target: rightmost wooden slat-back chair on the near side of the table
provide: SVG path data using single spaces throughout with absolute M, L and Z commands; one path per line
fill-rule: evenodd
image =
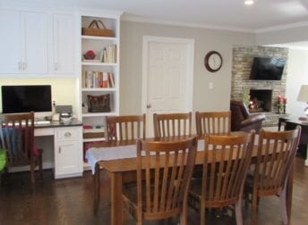
M 287 179 L 292 171 L 301 127 L 287 131 L 261 129 L 257 162 L 245 183 L 245 198 L 252 194 L 252 220 L 257 220 L 257 206 L 261 196 L 280 197 L 281 218 L 289 224 L 287 212 Z

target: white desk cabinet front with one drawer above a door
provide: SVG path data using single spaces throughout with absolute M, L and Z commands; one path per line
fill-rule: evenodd
M 55 129 L 55 178 L 82 176 L 82 127 Z

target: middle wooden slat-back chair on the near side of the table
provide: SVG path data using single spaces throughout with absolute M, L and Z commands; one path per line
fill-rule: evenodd
M 235 204 L 236 224 L 243 224 L 244 180 L 251 158 L 255 131 L 238 135 L 205 135 L 203 173 L 194 179 L 188 204 L 206 223 L 206 209 Z

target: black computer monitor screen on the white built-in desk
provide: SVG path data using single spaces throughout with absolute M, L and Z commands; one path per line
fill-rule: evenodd
M 51 86 L 2 86 L 2 112 L 51 112 Z M 37 113 L 36 113 L 37 114 Z

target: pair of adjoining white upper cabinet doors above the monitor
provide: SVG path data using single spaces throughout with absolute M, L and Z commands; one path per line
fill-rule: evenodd
M 46 13 L 1 9 L 0 30 L 0 73 L 47 73 Z

